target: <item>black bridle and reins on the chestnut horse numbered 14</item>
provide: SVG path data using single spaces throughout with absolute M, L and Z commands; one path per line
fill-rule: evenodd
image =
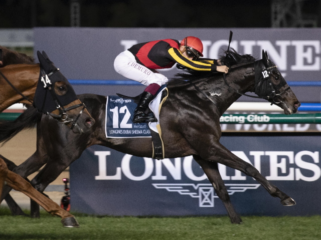
M 82 114 L 83 110 L 85 109 L 86 105 L 84 103 L 80 103 L 80 104 L 76 104 L 76 105 L 72 105 L 70 107 L 65 108 L 61 103 L 59 98 L 57 97 L 57 94 L 54 90 L 54 88 L 52 87 L 52 83 L 49 79 L 49 77 L 54 74 L 56 71 L 59 71 L 59 68 L 55 69 L 54 71 L 50 72 L 49 74 L 46 75 L 45 71 L 40 68 L 40 72 L 41 75 L 39 77 L 39 81 L 43 81 L 44 82 L 44 88 L 48 89 L 49 92 L 51 93 L 52 98 L 54 99 L 56 108 L 59 109 L 59 115 L 54 114 L 54 113 L 49 113 L 46 111 L 43 111 L 42 109 L 39 109 L 35 106 L 34 102 L 32 100 L 29 99 L 29 97 L 25 96 L 17 87 L 15 87 L 10 80 L 0 71 L 0 75 L 2 75 L 2 77 L 7 81 L 7 83 L 18 93 L 20 94 L 25 100 L 29 101 L 31 104 L 33 104 L 38 110 L 42 111 L 43 113 L 49 114 L 54 118 L 57 118 L 58 120 L 62 120 L 60 121 L 60 123 L 68 123 L 71 121 L 74 121 L 70 127 L 70 129 L 73 129 L 76 125 L 77 125 L 77 121 L 80 117 L 80 115 Z M 71 120 L 67 120 L 68 119 L 68 114 L 67 111 L 71 110 L 71 109 L 75 109 L 77 107 L 81 107 L 83 106 L 83 108 L 80 110 L 78 116 L 76 117 L 75 120 L 71 119 Z

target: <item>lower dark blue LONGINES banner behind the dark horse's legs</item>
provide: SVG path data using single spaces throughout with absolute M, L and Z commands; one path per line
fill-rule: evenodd
M 242 215 L 321 214 L 319 136 L 223 136 L 221 143 L 291 196 L 285 207 L 252 177 L 220 164 Z M 166 149 L 165 149 L 166 150 Z M 192 156 L 156 160 L 94 145 L 70 166 L 72 210 L 108 215 L 226 214 Z

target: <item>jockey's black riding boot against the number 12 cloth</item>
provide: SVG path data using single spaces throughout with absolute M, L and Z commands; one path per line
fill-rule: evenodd
M 148 104 L 151 101 L 153 94 L 148 91 L 144 91 L 140 97 L 139 103 L 134 111 L 134 123 L 155 121 L 156 118 L 152 111 L 145 113 L 148 108 Z

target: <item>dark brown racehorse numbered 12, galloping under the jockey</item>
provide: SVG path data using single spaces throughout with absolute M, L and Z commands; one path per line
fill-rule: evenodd
M 187 72 L 178 74 L 169 81 L 169 95 L 159 116 L 165 157 L 193 155 L 223 201 L 231 222 L 241 223 L 219 173 L 218 163 L 254 177 L 273 197 L 279 197 L 283 205 L 294 205 L 295 201 L 268 182 L 254 166 L 234 155 L 219 142 L 220 116 L 241 94 L 248 91 L 254 91 L 259 97 L 278 105 L 285 114 L 295 113 L 300 102 L 277 66 L 268 59 L 266 52 L 263 51 L 261 60 L 256 60 L 248 54 L 240 55 L 234 50 L 226 53 L 226 56 L 221 57 L 221 61 L 230 65 L 230 72 L 226 75 L 187 69 Z M 14 167 L 15 172 L 27 177 L 46 164 L 31 181 L 41 192 L 67 166 L 79 158 L 87 147 L 94 144 L 127 154 L 152 157 L 151 138 L 105 136 L 106 96 L 82 94 L 79 97 L 96 120 L 92 131 L 77 135 L 43 115 L 37 124 L 36 152 L 24 163 Z M 5 134 L 0 133 L 0 141 L 5 138 Z M 6 189 L 6 193 L 9 190 Z M 37 215 L 37 212 L 34 214 Z

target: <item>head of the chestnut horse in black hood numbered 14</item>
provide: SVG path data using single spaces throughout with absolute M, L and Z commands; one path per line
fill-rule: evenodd
M 86 132 L 95 120 L 78 99 L 67 78 L 49 59 L 46 52 L 37 51 L 40 62 L 40 77 L 34 98 L 34 105 L 62 123 L 75 133 Z

